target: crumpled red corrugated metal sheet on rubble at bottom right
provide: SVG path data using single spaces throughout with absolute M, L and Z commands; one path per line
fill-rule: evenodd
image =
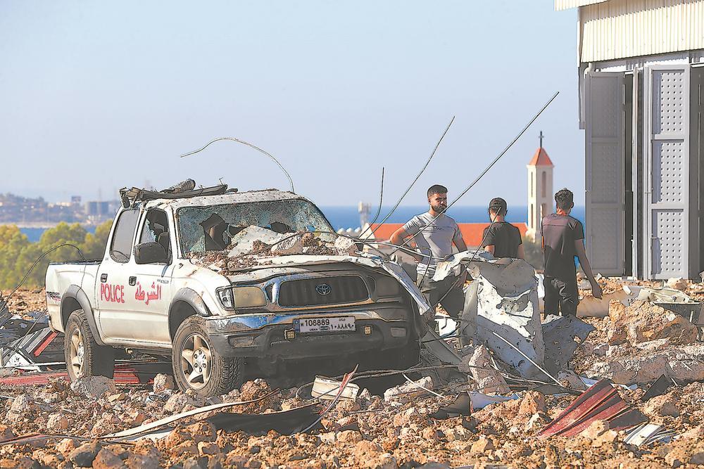
M 612 430 L 620 430 L 645 422 L 647 418 L 624 402 L 610 381 L 601 380 L 574 399 L 565 411 L 538 433 L 538 437 L 573 437 L 596 420 L 605 420 L 612 424 Z

